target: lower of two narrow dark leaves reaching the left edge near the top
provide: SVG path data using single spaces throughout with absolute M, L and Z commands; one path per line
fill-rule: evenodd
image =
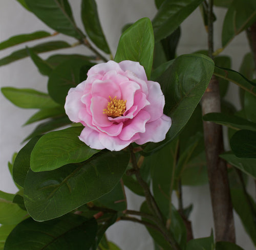
M 34 53 L 44 53 L 44 52 L 48 52 L 48 51 L 66 49 L 66 48 L 70 48 L 70 47 L 71 47 L 70 44 L 68 44 L 65 41 L 50 41 L 50 42 L 40 43 L 34 47 L 31 47 L 30 49 Z M 0 66 L 23 59 L 27 56 L 29 56 L 27 49 L 21 49 L 21 50 L 14 51 L 9 56 L 6 56 L 6 57 L 0 59 Z

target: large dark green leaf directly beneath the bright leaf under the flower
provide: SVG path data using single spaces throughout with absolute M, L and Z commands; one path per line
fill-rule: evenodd
M 102 152 L 53 171 L 30 170 L 24 189 L 29 214 L 38 221 L 49 220 L 110 192 L 122 177 L 129 156 L 124 151 Z

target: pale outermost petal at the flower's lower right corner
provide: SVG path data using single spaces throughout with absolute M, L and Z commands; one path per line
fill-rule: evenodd
M 146 123 L 146 131 L 144 133 L 139 133 L 140 139 L 135 142 L 139 145 L 146 142 L 161 142 L 165 139 L 167 131 L 172 125 L 172 120 L 162 115 L 158 120 Z

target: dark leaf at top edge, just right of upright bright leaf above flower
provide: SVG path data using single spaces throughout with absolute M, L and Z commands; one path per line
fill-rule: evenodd
M 156 42 L 172 34 L 203 0 L 165 0 L 152 24 Z

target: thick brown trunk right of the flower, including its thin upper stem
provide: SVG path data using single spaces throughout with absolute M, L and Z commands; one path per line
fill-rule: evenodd
M 213 0 L 208 4 L 208 55 L 213 58 Z M 210 83 L 202 97 L 202 113 L 221 112 L 219 83 L 212 76 Z M 219 157 L 223 151 L 223 137 L 221 125 L 204 122 L 204 143 L 207 160 L 211 206 L 214 214 L 216 241 L 235 241 L 232 203 L 228 185 L 226 163 Z

